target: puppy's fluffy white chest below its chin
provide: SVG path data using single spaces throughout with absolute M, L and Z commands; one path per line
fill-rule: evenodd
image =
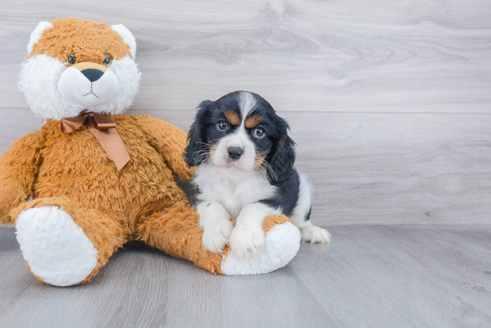
M 194 183 L 199 187 L 198 199 L 220 203 L 231 217 L 249 204 L 273 195 L 275 187 L 256 172 L 200 166 Z

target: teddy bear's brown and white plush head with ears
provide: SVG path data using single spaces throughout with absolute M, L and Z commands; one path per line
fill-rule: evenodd
M 123 25 L 73 18 L 41 22 L 27 52 L 19 89 L 44 119 L 83 111 L 121 114 L 138 90 L 135 37 Z

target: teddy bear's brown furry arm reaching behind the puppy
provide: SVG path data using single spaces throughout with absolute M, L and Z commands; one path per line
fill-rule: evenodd
M 182 152 L 186 147 L 187 133 L 175 125 L 148 115 L 138 116 L 137 124 L 147 135 L 148 142 L 162 155 L 171 170 L 180 179 L 190 181 L 194 169 L 188 168 L 182 157 Z

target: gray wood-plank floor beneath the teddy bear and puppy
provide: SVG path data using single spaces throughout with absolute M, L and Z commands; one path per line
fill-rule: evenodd
M 2 327 L 489 327 L 491 226 L 336 226 L 285 268 L 215 276 L 132 245 L 89 284 L 39 283 L 0 227 Z

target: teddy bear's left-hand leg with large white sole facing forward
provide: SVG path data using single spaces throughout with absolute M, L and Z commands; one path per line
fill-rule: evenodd
M 29 269 L 56 286 L 90 281 L 129 235 L 116 213 L 81 208 L 65 197 L 30 201 L 12 216 Z

